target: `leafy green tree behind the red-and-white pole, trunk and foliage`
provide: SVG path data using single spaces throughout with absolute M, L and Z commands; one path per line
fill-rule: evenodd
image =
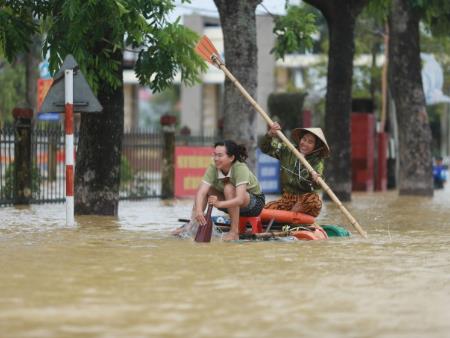
M 169 86 L 177 72 L 189 85 L 198 81 L 199 72 L 206 68 L 193 50 L 197 36 L 178 21 L 167 22 L 166 15 L 174 7 L 169 0 L 48 0 L 20 2 L 22 7 L 16 4 L 17 1 L 7 1 L 11 11 L 20 14 L 31 9 L 34 16 L 43 20 L 44 54 L 50 53 L 50 68 L 56 70 L 67 54 L 73 54 L 103 106 L 102 113 L 81 117 L 75 212 L 116 215 L 124 115 L 123 52 L 126 48 L 139 49 L 135 71 L 140 82 L 152 90 Z M 36 27 L 30 26 L 29 30 L 36 31 Z M 7 51 L 3 48 L 8 57 L 28 48 L 25 43 L 14 45 L 8 36 L 0 40 L 0 45 L 8 44 L 14 47 Z

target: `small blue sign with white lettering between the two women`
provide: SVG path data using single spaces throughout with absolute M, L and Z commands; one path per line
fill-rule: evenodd
M 265 194 L 280 193 L 280 161 L 256 150 L 256 173 Z

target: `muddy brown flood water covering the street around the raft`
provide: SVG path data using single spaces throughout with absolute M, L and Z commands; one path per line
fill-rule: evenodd
M 274 197 L 272 197 L 273 199 Z M 355 193 L 363 239 L 198 244 L 169 231 L 191 201 L 0 209 L 1 337 L 449 337 L 450 189 Z

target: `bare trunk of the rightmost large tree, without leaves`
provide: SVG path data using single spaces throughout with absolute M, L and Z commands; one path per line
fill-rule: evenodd
M 420 13 L 393 0 L 389 18 L 390 84 L 399 126 L 400 195 L 433 195 L 431 129 L 420 60 Z

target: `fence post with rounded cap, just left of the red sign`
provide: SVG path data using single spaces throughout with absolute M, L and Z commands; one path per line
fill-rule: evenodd
M 174 157 L 175 157 L 175 124 L 176 116 L 164 114 L 160 123 L 163 130 L 163 163 L 162 163 L 162 198 L 174 197 Z

